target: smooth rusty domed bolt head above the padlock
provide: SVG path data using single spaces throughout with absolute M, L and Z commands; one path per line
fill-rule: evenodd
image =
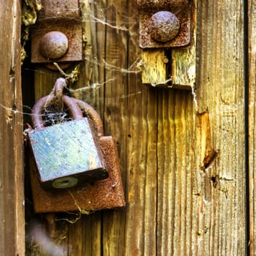
M 50 31 L 40 41 L 40 51 L 47 59 L 59 59 L 67 53 L 69 40 L 60 31 Z

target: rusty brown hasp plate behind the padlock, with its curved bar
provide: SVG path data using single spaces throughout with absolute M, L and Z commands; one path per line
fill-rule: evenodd
M 59 94 L 61 89 L 58 89 L 57 82 L 55 91 Z M 52 99 L 49 100 L 51 101 Z M 72 101 L 75 101 L 75 104 L 82 110 L 83 116 L 87 116 L 89 121 L 93 124 L 94 132 L 97 137 L 96 141 L 102 152 L 105 167 L 108 171 L 108 178 L 95 181 L 94 183 L 86 183 L 83 184 L 83 186 L 46 191 L 42 189 L 40 185 L 34 159 L 33 157 L 29 157 L 34 210 L 37 213 L 81 210 L 90 212 L 105 208 L 119 208 L 125 206 L 116 140 L 112 136 L 104 135 L 102 120 L 94 108 L 79 99 L 72 98 Z M 58 104 L 61 105 L 61 101 Z M 40 111 L 41 110 L 39 110 L 39 112 Z M 42 126 L 42 121 L 34 122 L 37 126 Z

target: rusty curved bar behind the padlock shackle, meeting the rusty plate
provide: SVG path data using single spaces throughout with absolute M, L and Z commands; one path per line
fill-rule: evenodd
M 79 108 L 83 110 L 87 116 L 91 119 L 92 123 L 94 124 L 94 128 L 96 129 L 98 137 L 104 136 L 104 129 L 102 124 L 102 119 L 100 118 L 99 114 L 97 113 L 91 105 L 83 102 L 80 99 L 74 99 L 75 102 L 78 104 Z

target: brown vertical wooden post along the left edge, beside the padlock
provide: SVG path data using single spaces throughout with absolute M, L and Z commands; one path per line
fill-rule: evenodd
M 0 255 L 25 255 L 20 1 L 1 1 Z

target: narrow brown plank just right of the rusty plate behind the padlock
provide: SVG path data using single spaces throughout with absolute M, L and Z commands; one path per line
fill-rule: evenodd
M 141 59 L 138 9 L 129 1 L 128 67 Z M 134 69 L 133 69 L 134 70 Z M 136 70 L 136 69 L 135 69 Z M 157 254 L 157 89 L 128 76 L 127 219 L 125 255 Z

